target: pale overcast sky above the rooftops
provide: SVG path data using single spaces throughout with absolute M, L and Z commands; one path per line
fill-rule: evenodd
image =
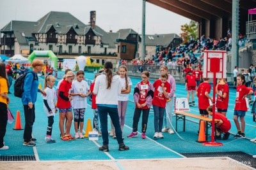
M 96 25 L 104 31 L 132 28 L 141 34 L 142 0 L 1 0 L 0 29 L 11 20 L 37 21 L 49 11 L 65 11 L 84 24 L 96 11 Z M 189 19 L 146 3 L 146 34 L 180 34 Z

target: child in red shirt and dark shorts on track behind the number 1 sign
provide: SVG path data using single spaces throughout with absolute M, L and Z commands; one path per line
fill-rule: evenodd
M 185 89 L 188 91 L 187 97 L 188 97 L 188 102 L 190 98 L 190 93 L 192 94 L 192 102 L 189 102 L 189 106 L 195 107 L 195 90 L 196 90 L 196 76 L 192 74 L 191 71 L 188 72 L 186 75 L 186 83 L 185 83 Z

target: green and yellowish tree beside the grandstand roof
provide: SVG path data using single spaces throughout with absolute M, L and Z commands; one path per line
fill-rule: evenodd
M 189 41 L 189 37 L 192 35 L 194 39 L 196 39 L 197 31 L 198 31 L 198 22 L 191 20 L 189 24 L 184 24 L 180 26 L 182 33 L 180 33 L 180 37 L 183 39 L 183 43 Z

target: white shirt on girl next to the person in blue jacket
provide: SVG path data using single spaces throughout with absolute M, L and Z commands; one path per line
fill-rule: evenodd
M 44 104 L 44 112 L 47 115 L 47 117 L 55 116 L 55 103 L 56 103 L 56 92 L 55 89 L 47 87 L 44 92 L 46 93 L 46 96 L 43 96 L 44 100 L 47 100 L 49 108 L 51 108 L 52 113 L 49 113 L 48 109 L 46 108 Z

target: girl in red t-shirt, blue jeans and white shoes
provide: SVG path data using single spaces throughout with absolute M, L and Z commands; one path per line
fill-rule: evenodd
M 153 138 L 164 138 L 162 134 L 164 111 L 166 106 L 166 97 L 171 91 L 171 85 L 168 83 L 168 74 L 161 73 L 160 80 L 156 80 L 153 84 L 154 97 L 152 101 L 154 109 L 154 127 L 155 134 Z

